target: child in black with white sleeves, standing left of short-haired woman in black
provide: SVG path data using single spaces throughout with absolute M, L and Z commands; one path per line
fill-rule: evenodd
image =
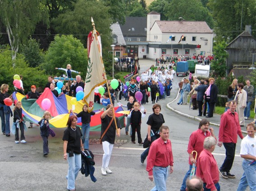
M 127 118 L 130 118 L 130 125 L 131 125 L 131 142 L 135 144 L 135 133 L 137 131 L 137 136 L 138 136 L 138 143 L 140 145 L 143 145 L 142 139 L 141 139 L 141 134 L 140 134 L 140 124 L 141 124 L 141 119 L 144 118 L 146 115 L 146 109 L 144 110 L 143 113 L 139 110 L 140 104 L 138 102 L 134 103 L 134 109 L 130 111 L 130 114 L 127 116 Z

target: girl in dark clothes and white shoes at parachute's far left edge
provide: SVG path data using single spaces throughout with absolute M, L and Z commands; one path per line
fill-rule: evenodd
M 14 107 L 14 123 L 15 126 L 15 143 L 19 143 L 19 130 L 20 130 L 20 142 L 27 143 L 24 136 L 25 125 L 22 118 L 21 102 L 18 101 Z M 12 131 L 13 132 L 13 131 Z

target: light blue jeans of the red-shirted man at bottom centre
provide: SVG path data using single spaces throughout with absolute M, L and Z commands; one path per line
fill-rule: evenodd
M 153 167 L 155 187 L 151 191 L 166 191 L 166 181 L 168 178 L 168 167 Z

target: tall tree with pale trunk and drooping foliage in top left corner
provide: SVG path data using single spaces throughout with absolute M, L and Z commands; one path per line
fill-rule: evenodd
M 48 23 L 45 0 L 0 0 L 0 19 L 6 27 L 12 49 L 13 67 L 19 44 L 28 40 L 40 21 Z

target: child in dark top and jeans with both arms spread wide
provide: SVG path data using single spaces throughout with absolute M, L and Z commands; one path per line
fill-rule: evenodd
M 90 134 L 90 122 L 91 122 L 91 115 L 99 114 L 100 112 L 104 111 L 104 108 L 102 108 L 100 111 L 93 112 L 91 111 L 88 113 L 88 105 L 84 104 L 83 111 L 81 111 L 79 114 L 75 115 L 73 110 L 70 110 L 74 116 L 81 117 L 82 120 L 82 142 L 84 144 L 84 149 L 89 149 L 89 134 Z

